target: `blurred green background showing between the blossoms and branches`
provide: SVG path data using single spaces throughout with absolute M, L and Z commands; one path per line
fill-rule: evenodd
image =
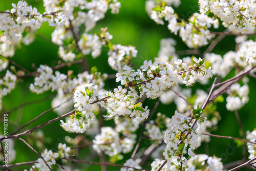
M 25 0 L 29 5 L 36 7 L 39 12 L 44 12 L 44 8 L 42 5 L 42 1 L 39 0 Z M 0 11 L 5 11 L 6 9 L 11 9 L 11 3 L 17 3 L 18 1 L 0 1 Z M 159 44 L 161 38 L 173 37 L 177 41 L 176 50 L 186 50 L 187 46 L 181 41 L 179 36 L 175 36 L 169 32 L 167 29 L 167 24 L 164 26 L 157 25 L 145 12 L 145 0 L 121 0 L 121 9 L 118 15 L 113 15 L 110 11 L 106 14 L 105 18 L 100 20 L 97 26 L 91 31 L 91 33 L 99 32 L 100 28 L 108 27 L 110 34 L 113 35 L 113 44 L 121 44 L 121 45 L 132 45 L 135 46 L 138 50 L 138 54 L 136 58 L 132 59 L 132 63 L 136 66 L 140 66 L 141 63 L 148 59 L 154 59 L 157 56 L 159 51 Z M 180 17 L 186 19 L 194 12 L 198 12 L 198 1 L 195 0 L 183 0 L 181 1 L 181 5 L 178 8 L 174 8 L 175 12 L 179 14 Z M 48 24 L 44 24 L 39 30 L 38 34 L 43 35 L 51 39 L 51 32 L 54 28 L 49 27 Z M 219 30 L 214 31 L 223 31 L 224 28 L 220 27 Z M 234 42 L 234 36 L 226 36 L 220 43 L 215 47 L 213 52 L 217 54 L 225 54 L 230 50 L 235 50 L 236 43 Z M 251 37 L 255 38 L 255 37 Z M 201 52 L 204 52 L 206 47 L 200 49 Z M 35 41 L 29 46 L 22 46 L 20 49 L 17 49 L 15 55 L 12 60 L 18 63 L 20 66 L 23 66 L 25 69 L 29 71 L 34 71 L 32 69 L 32 63 L 35 64 L 36 67 L 39 67 L 40 64 L 47 64 L 50 67 L 54 67 L 57 65 L 57 61 L 60 60 L 57 54 L 58 47 L 50 44 L 45 39 L 40 37 L 36 37 Z M 108 49 L 102 50 L 102 54 L 96 58 L 92 59 L 91 56 L 88 56 L 88 61 L 90 67 L 97 66 L 98 70 L 101 72 L 105 72 L 108 74 L 116 74 L 109 65 L 108 65 Z M 184 56 L 181 56 L 184 57 Z M 10 65 L 9 65 L 10 66 Z M 75 73 L 82 72 L 84 69 L 82 66 L 72 66 L 66 67 L 60 70 L 60 72 L 67 74 L 68 70 L 74 70 Z M 2 73 L 3 75 L 4 73 Z M 227 78 L 226 78 L 227 79 Z M 249 130 L 250 132 L 255 129 L 255 85 L 256 81 L 254 78 L 249 77 L 250 79 L 250 94 L 249 94 L 249 102 L 243 107 L 243 109 L 239 110 L 240 116 L 242 118 L 242 123 L 244 126 L 244 130 Z M 14 107 L 23 104 L 25 102 L 44 99 L 50 97 L 54 97 L 56 92 L 46 92 L 41 95 L 37 95 L 31 93 L 29 91 L 29 84 L 33 82 L 33 78 L 24 78 L 20 80 L 17 84 L 17 87 L 7 96 L 5 96 L 3 100 L 3 110 L 2 116 L 5 112 L 10 111 Z M 212 81 L 209 81 L 212 82 Z M 105 85 L 105 90 L 113 90 L 117 85 L 115 79 L 108 80 Z M 204 90 L 208 90 L 210 88 L 210 84 L 204 86 Z M 198 88 L 197 84 L 193 87 L 195 91 Z M 202 88 L 202 87 L 201 87 Z M 224 95 L 226 98 L 226 95 Z M 24 108 L 20 108 L 15 112 L 9 114 L 9 127 L 8 132 L 12 133 L 17 130 L 20 126 L 24 125 L 31 119 L 38 116 L 40 113 L 51 108 L 51 100 L 52 98 L 48 98 L 43 102 L 38 102 L 36 104 L 27 105 Z M 150 109 L 153 109 L 156 100 L 146 99 L 143 103 L 144 106 L 148 105 Z M 229 112 L 225 108 L 225 101 L 218 105 L 218 111 L 222 117 L 222 120 L 218 124 L 218 130 L 215 132 L 211 132 L 211 134 L 223 135 L 223 136 L 232 136 L 236 138 L 242 138 L 239 134 L 239 125 L 234 116 L 233 112 Z M 157 112 L 162 112 L 168 117 L 172 117 L 176 110 L 174 104 L 171 105 L 163 105 L 160 103 L 158 106 Z M 156 115 L 155 115 L 156 116 Z M 32 124 L 30 124 L 26 129 L 31 129 L 39 124 L 45 123 L 48 120 L 56 118 L 57 114 L 55 112 L 49 112 L 45 116 L 36 120 Z M 75 137 L 77 134 L 70 134 L 66 131 L 63 131 L 61 126 L 59 126 L 60 122 L 51 123 L 41 130 L 44 132 L 44 144 L 45 148 L 52 149 L 53 152 L 56 151 L 57 145 L 59 142 L 65 143 L 65 136 Z M 104 121 L 104 125 L 111 125 L 113 121 Z M 1 120 L 1 128 L 2 120 Z M 138 130 L 140 133 L 141 127 Z M 33 134 L 32 134 L 33 135 Z M 25 140 L 29 141 L 28 138 L 31 139 L 31 145 L 35 147 L 38 152 L 41 152 L 42 149 L 39 149 L 35 144 L 34 140 L 31 136 L 22 137 Z M 23 142 L 20 142 L 17 139 L 14 139 L 15 142 L 15 150 L 16 150 L 16 160 L 12 163 L 17 162 L 26 162 L 37 160 L 38 156 L 31 151 Z M 147 140 L 143 140 L 138 152 L 149 146 Z M 232 146 L 232 147 L 230 147 Z M 55 149 L 55 150 L 54 150 Z M 82 148 L 80 152 L 80 158 L 88 159 L 86 156 L 91 151 L 91 147 Z M 209 156 L 216 155 L 217 157 L 222 157 L 223 163 L 229 163 L 232 161 L 237 161 L 242 159 L 242 146 L 238 146 L 237 143 L 234 143 L 233 140 L 230 139 L 218 139 L 211 138 L 211 141 L 208 144 L 202 143 L 202 145 L 195 151 L 197 154 L 205 153 Z M 248 152 L 246 150 L 247 156 Z M 131 157 L 132 153 L 124 155 L 123 160 L 118 161 L 116 164 L 123 164 L 125 160 Z M 97 156 L 92 156 L 89 158 L 90 161 L 98 162 Z M 88 159 L 88 160 L 89 160 Z M 150 163 L 153 159 L 147 161 L 145 165 L 142 166 L 144 169 L 150 169 Z M 2 163 L 1 163 L 2 164 Z M 11 164 L 11 163 L 9 163 Z M 98 165 L 89 165 L 89 164 L 77 164 L 80 170 L 100 170 L 100 166 Z M 29 169 L 29 166 L 20 166 L 20 167 L 12 167 L 11 170 L 24 170 Z M 55 168 L 55 167 L 54 167 Z M 109 170 L 119 170 L 119 167 L 108 167 Z M 249 168 L 242 168 L 241 170 L 250 170 Z

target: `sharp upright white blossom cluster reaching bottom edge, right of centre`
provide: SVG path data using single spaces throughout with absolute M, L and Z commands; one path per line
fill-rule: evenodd
M 164 133 L 164 157 L 167 160 L 167 170 L 178 170 L 181 165 L 187 168 L 187 159 L 183 156 L 186 153 L 186 148 L 189 145 L 187 154 L 194 156 L 194 150 L 201 145 L 202 125 L 197 122 L 196 129 L 191 129 L 189 126 L 189 117 L 175 111 L 172 119 L 168 120 L 168 128 Z M 186 136 L 185 134 L 189 132 Z

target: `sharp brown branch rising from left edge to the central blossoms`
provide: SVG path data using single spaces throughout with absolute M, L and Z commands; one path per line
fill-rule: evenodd
M 17 137 L 20 137 L 20 136 L 24 136 L 24 135 L 31 134 L 33 131 L 40 129 L 41 127 L 44 127 L 44 126 L 46 126 L 46 125 L 48 125 L 48 124 L 50 124 L 50 123 L 52 123 L 52 122 L 55 122 L 55 121 L 57 121 L 57 120 L 60 120 L 60 119 L 62 119 L 62 118 L 64 118 L 64 117 L 68 116 L 68 115 L 71 115 L 71 114 L 75 113 L 75 111 L 76 111 L 76 110 L 73 110 L 73 111 L 71 111 L 71 112 L 69 112 L 69 113 L 66 113 L 66 114 L 64 114 L 64 115 L 61 115 L 61 116 L 59 116 L 59 117 L 57 117 L 57 118 L 55 118 L 55 119 L 49 120 L 49 121 L 47 121 L 46 123 L 41 124 L 41 125 L 38 125 L 38 126 L 34 127 L 33 129 L 24 131 L 23 133 L 11 135 L 11 136 L 9 135 L 9 136 L 7 136 L 7 138 L 5 138 L 5 137 L 4 137 L 4 138 L 0 138 L 0 141 L 3 141 L 4 139 L 8 139 L 8 138 L 17 138 Z

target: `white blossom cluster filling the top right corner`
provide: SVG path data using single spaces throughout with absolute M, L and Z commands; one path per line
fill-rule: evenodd
M 199 4 L 201 13 L 214 13 L 223 21 L 222 25 L 233 32 L 246 33 L 248 27 L 256 25 L 254 1 L 199 0 Z

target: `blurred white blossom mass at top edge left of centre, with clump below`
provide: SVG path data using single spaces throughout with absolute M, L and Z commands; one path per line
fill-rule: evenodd
M 64 3 L 44 0 L 44 6 L 47 13 L 54 13 L 54 15 L 47 17 L 49 25 L 55 27 L 52 33 L 52 41 L 57 45 L 63 45 L 63 41 L 72 36 L 72 31 L 76 34 L 81 28 L 84 29 L 81 30 L 82 33 L 90 31 L 95 27 L 98 20 L 105 17 L 105 13 L 109 8 L 112 13 L 116 14 L 119 12 L 121 4 L 117 2 L 117 0 L 68 0 Z M 78 9 L 78 11 L 76 9 Z M 98 37 L 91 34 L 89 35 L 84 33 L 83 37 L 89 37 L 86 41 L 81 40 L 80 46 L 86 46 L 86 44 L 89 46 L 89 48 L 83 52 L 87 54 L 90 48 L 95 48 L 93 49 L 92 56 L 97 57 L 100 53 L 98 49 L 99 47 L 101 48 Z M 81 50 L 82 49 L 83 48 L 81 48 Z

